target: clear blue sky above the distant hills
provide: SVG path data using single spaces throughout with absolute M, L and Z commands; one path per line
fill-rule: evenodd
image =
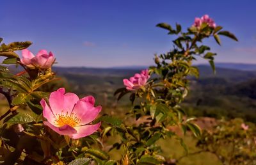
M 207 13 L 239 39 L 222 38 L 221 47 L 207 40 L 216 61 L 256 64 L 255 7 L 254 0 L 1 0 L 0 36 L 31 40 L 31 51 L 52 51 L 59 66 L 152 65 L 154 54 L 172 48 L 157 23 L 187 28 Z

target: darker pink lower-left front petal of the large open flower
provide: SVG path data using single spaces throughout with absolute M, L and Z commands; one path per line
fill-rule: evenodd
M 73 127 L 70 127 L 69 125 L 63 125 L 62 127 L 55 127 L 54 125 L 52 125 L 49 122 L 44 122 L 44 125 L 47 125 L 52 130 L 54 130 L 55 132 L 57 132 L 58 134 L 61 134 L 61 135 L 69 135 L 70 136 L 72 134 L 77 133 L 77 130 L 74 129 Z

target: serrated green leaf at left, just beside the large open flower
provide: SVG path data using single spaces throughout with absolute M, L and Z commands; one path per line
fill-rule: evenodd
M 35 118 L 33 118 L 28 113 L 18 113 L 17 115 L 10 118 L 10 120 L 6 121 L 6 123 L 12 123 L 12 124 L 15 124 L 15 123 L 24 124 L 24 123 L 31 123 L 31 122 L 35 122 Z

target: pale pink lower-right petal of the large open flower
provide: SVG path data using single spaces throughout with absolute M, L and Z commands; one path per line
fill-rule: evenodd
M 76 134 L 69 135 L 72 139 L 79 139 L 83 138 L 85 136 L 89 136 L 90 134 L 93 134 L 93 132 L 96 132 L 100 127 L 100 122 L 95 125 L 83 125 L 74 127 L 74 129 L 77 130 Z

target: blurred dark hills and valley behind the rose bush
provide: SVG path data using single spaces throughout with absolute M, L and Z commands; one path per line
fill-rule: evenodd
M 127 100 L 118 103 L 113 93 L 123 87 L 122 80 L 147 67 L 54 67 L 62 77 L 60 86 L 80 96 L 93 95 L 106 111 L 122 114 L 130 107 Z M 190 88 L 183 107 L 189 115 L 214 118 L 240 117 L 256 123 L 256 65 L 216 63 L 216 74 L 207 65 L 198 65 L 200 77 L 191 77 Z M 211 93 L 211 95 L 209 95 Z M 125 102 L 126 101 L 126 102 Z M 129 108 L 125 108 L 129 109 Z

